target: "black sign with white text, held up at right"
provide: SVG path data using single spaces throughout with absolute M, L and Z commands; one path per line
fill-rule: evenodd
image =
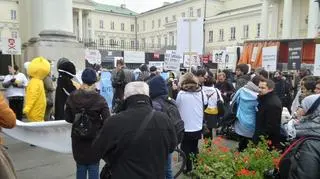
M 288 70 L 299 70 L 302 58 L 302 41 L 289 42 Z

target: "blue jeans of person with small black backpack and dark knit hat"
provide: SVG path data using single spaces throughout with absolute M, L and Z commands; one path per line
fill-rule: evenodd
M 99 179 L 99 162 L 89 165 L 77 164 L 76 179 L 87 179 L 87 173 L 89 174 L 88 179 Z

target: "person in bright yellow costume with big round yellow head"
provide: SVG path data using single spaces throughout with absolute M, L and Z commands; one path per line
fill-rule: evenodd
M 26 114 L 30 122 L 44 121 L 46 95 L 42 80 L 49 72 L 50 63 L 43 57 L 34 58 L 28 66 L 27 73 L 31 80 L 27 86 L 23 113 Z

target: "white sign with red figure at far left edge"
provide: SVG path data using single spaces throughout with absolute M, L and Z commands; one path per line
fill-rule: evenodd
M 3 38 L 1 42 L 2 54 L 21 55 L 20 38 Z

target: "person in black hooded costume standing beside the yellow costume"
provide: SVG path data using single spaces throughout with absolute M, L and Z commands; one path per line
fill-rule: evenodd
M 56 96 L 54 102 L 55 120 L 64 119 L 64 107 L 68 96 L 76 90 L 72 78 L 76 75 L 76 67 L 66 58 L 59 59 L 57 63 L 59 77 L 56 87 Z

